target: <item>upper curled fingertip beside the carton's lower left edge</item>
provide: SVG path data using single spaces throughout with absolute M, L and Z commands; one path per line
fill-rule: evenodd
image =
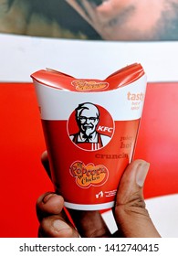
M 39 221 L 50 215 L 63 214 L 64 199 L 55 193 L 47 192 L 37 199 L 37 218 Z

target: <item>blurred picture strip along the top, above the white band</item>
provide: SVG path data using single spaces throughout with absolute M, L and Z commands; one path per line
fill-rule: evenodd
M 0 31 L 104 40 L 177 40 L 178 0 L 0 0 Z M 64 16 L 68 10 L 68 16 Z

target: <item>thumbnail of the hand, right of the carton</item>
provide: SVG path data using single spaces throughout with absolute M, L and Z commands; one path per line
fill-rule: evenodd
M 137 166 L 136 183 L 139 187 L 143 186 L 149 167 L 150 164 L 145 161 L 141 161 Z

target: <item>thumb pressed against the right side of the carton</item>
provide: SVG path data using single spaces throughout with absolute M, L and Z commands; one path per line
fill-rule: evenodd
M 135 160 L 126 168 L 118 189 L 115 219 L 124 237 L 160 237 L 145 207 L 142 187 L 149 164 Z

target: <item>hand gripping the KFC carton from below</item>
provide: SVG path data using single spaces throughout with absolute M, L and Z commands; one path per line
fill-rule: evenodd
M 50 170 L 47 153 L 42 155 L 42 163 L 48 175 Z M 118 188 L 113 209 L 119 227 L 114 237 L 160 237 L 152 219 L 145 208 L 142 187 L 149 164 L 136 160 L 126 168 Z M 109 229 L 99 211 L 80 211 L 68 209 L 75 227 L 64 208 L 63 197 L 55 193 L 46 193 L 37 200 L 37 217 L 40 222 L 39 237 L 78 238 L 111 237 Z

